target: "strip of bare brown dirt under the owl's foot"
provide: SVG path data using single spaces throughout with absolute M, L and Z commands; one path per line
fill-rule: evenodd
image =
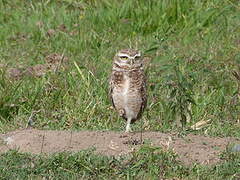
M 220 161 L 219 154 L 228 143 L 239 143 L 236 138 L 212 138 L 187 135 L 179 138 L 174 134 L 144 132 L 143 140 L 166 150 L 173 150 L 187 165 L 192 163 L 214 164 Z M 9 149 L 33 154 L 62 151 L 77 152 L 96 148 L 96 152 L 107 156 L 128 154 L 140 146 L 140 132 L 122 133 L 113 131 L 43 131 L 18 130 L 0 134 L 0 153 Z

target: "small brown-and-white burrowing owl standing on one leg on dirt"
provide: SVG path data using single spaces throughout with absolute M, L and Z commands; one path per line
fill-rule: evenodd
M 129 132 L 130 124 L 141 117 L 147 103 L 143 58 L 139 51 L 123 49 L 115 55 L 109 84 L 113 106 L 127 120 L 126 132 Z

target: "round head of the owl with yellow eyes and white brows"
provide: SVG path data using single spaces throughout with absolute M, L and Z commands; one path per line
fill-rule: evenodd
M 118 68 L 133 69 L 143 65 L 140 51 L 134 49 L 120 50 L 114 57 L 114 65 Z

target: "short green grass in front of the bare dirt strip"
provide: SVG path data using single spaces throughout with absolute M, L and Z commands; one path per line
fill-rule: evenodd
M 174 153 L 151 146 L 119 158 L 95 155 L 93 150 L 51 156 L 17 151 L 0 155 L 1 179 L 238 179 L 239 169 L 239 154 L 222 154 L 222 162 L 209 168 L 186 167 Z

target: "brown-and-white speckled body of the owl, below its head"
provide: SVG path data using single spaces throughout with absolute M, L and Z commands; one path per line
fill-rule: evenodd
M 145 83 L 142 70 L 112 73 L 112 103 L 124 119 L 132 119 L 131 123 L 140 118 L 146 106 Z

